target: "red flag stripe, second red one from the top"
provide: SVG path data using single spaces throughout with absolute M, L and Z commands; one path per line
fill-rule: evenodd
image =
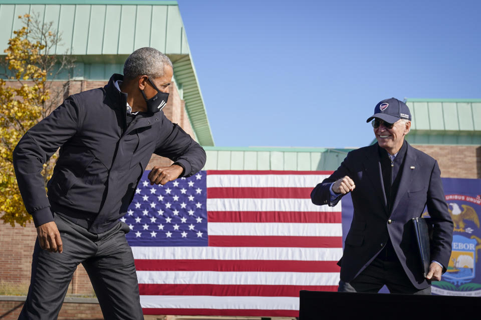
M 309 199 L 312 187 L 209 187 L 208 198 Z

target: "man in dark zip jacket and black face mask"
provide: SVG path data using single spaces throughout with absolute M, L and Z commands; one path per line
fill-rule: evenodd
M 57 318 L 79 263 L 106 319 L 143 318 L 129 227 L 119 218 L 152 153 L 174 161 L 152 168 L 152 184 L 190 176 L 205 163 L 202 147 L 161 111 L 172 74 L 166 55 L 140 48 L 123 76 L 69 96 L 18 143 L 15 172 L 38 233 L 21 319 Z M 46 196 L 42 165 L 59 147 Z

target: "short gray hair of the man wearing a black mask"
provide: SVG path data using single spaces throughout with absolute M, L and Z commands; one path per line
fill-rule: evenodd
M 157 49 L 143 47 L 129 55 L 124 63 L 124 77 L 133 79 L 139 75 L 147 75 L 150 79 L 164 75 L 166 65 L 172 67 L 169 57 Z

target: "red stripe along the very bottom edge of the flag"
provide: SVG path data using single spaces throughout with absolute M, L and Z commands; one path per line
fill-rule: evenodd
M 144 314 L 299 316 L 299 310 L 142 308 Z

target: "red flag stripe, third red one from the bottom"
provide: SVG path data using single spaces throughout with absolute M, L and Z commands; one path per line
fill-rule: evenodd
M 339 272 L 336 261 L 135 259 L 137 271 Z

